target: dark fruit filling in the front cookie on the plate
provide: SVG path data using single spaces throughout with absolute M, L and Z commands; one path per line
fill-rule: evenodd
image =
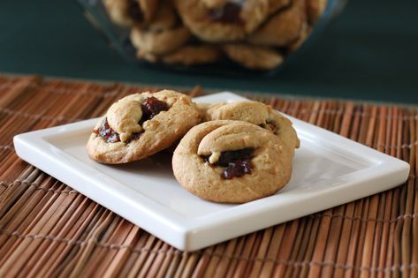
M 242 177 L 245 174 L 251 174 L 253 164 L 254 149 L 251 147 L 243 148 L 237 151 L 222 152 L 219 160 L 212 164 L 214 166 L 224 167 L 221 177 L 232 179 L 232 177 Z M 202 156 L 205 162 L 209 163 L 209 156 Z

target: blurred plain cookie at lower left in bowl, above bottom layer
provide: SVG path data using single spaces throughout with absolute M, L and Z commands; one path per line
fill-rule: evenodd
M 163 55 L 179 49 L 190 38 L 190 32 L 184 26 L 154 32 L 133 27 L 130 35 L 133 46 L 141 52 Z

